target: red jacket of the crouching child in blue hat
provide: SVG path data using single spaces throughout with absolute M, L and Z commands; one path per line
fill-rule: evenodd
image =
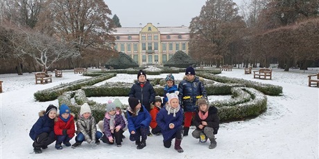
M 54 123 L 54 133 L 55 135 L 63 135 L 63 129 L 67 129 L 67 135 L 69 138 L 74 137 L 74 133 L 76 133 L 76 126 L 74 124 L 74 115 L 70 114 L 70 118 L 67 122 L 64 122 L 60 115 L 56 118 Z

